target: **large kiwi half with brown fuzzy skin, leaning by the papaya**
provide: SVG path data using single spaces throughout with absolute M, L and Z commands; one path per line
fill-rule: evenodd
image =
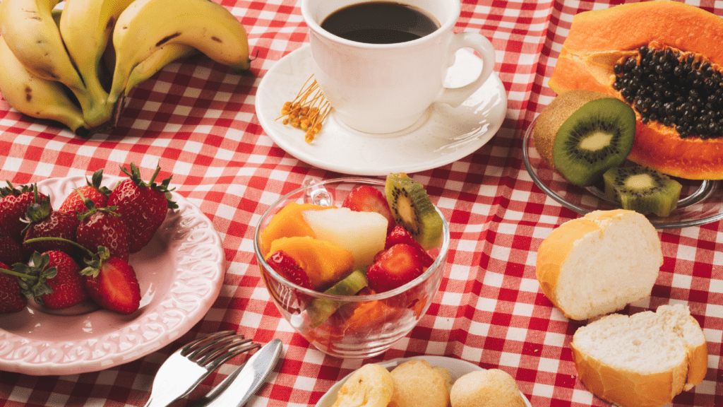
M 607 93 L 562 93 L 537 118 L 533 136 L 544 161 L 580 186 L 602 180 L 630 154 L 635 138 L 633 108 Z

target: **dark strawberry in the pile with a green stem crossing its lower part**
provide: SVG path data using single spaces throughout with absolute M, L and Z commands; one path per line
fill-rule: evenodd
M 35 191 L 37 192 L 37 191 Z M 50 205 L 50 198 L 35 197 L 35 202 L 27 207 L 25 220 L 30 222 L 23 231 L 22 250 L 25 256 L 29 257 L 33 251 L 43 253 L 45 251 L 59 250 L 75 255 L 75 247 L 70 243 L 59 241 L 42 241 L 26 243 L 26 240 L 33 238 L 64 238 L 75 240 L 78 228 L 78 218 L 73 214 L 53 211 Z

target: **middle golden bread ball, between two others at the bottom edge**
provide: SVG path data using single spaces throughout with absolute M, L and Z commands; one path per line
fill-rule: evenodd
M 394 394 L 388 407 L 448 407 L 448 380 L 428 361 L 406 361 L 395 367 L 391 375 Z

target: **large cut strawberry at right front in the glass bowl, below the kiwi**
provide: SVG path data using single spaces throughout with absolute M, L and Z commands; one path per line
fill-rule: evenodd
M 375 256 L 367 269 L 369 287 L 377 293 L 393 290 L 419 277 L 424 272 L 419 250 L 398 243 Z

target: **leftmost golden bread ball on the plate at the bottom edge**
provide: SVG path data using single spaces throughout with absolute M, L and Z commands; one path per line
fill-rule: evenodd
M 333 407 L 387 407 L 393 393 L 389 371 L 378 364 L 365 364 L 341 386 Z

